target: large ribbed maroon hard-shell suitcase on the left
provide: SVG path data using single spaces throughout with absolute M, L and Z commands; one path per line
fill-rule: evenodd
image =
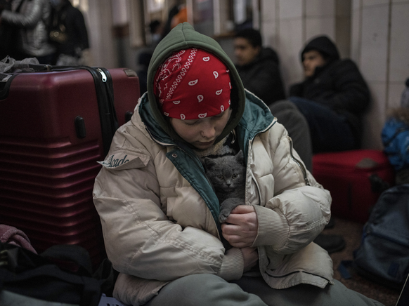
M 58 67 L 54 67 L 57 69 Z M 105 257 L 93 182 L 113 133 L 140 96 L 130 69 L 90 67 L 7 75 L 0 91 L 0 223 L 37 252 L 55 244 Z

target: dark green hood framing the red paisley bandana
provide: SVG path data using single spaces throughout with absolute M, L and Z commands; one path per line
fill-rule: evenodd
M 223 51 L 221 46 L 211 37 L 196 32 L 195 29 L 188 23 L 183 22 L 167 34 L 167 36 L 160 41 L 153 52 L 152 59 L 150 60 L 148 68 L 148 100 L 152 116 L 157 121 L 164 131 L 166 131 L 172 138 L 181 140 L 178 135 L 171 128 L 169 121 L 160 112 L 158 102 L 153 94 L 153 79 L 155 78 L 157 68 L 169 58 L 169 56 L 175 51 L 179 51 L 186 48 L 200 48 L 210 53 L 214 53 L 230 70 L 231 76 L 231 107 L 233 109 L 231 119 L 228 121 L 223 133 L 217 138 L 216 142 L 223 139 L 228 133 L 230 133 L 235 126 L 238 125 L 242 114 L 245 109 L 245 90 L 242 85 L 240 76 L 235 69 L 235 65 Z

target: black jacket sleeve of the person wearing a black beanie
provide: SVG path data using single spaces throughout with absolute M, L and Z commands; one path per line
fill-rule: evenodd
M 356 64 L 352 60 L 340 60 L 328 69 L 333 82 L 332 91 L 323 90 L 324 94 L 313 100 L 336 111 L 346 110 L 353 114 L 361 114 L 369 105 L 370 91 Z

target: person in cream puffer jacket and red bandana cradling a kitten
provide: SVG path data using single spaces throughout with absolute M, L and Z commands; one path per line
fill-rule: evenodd
M 221 223 L 201 161 L 240 151 L 245 198 Z M 125 304 L 381 305 L 332 279 L 312 242 L 330 193 L 294 161 L 287 131 L 219 44 L 187 22 L 155 49 L 148 94 L 110 157 L 123 162 L 101 163 L 93 201 Z

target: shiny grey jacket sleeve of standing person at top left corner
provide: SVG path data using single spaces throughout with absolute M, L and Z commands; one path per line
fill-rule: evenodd
M 32 0 L 32 3 L 28 5 L 30 5 L 30 10 L 27 10 L 27 12 L 24 13 L 14 13 L 6 10 L 1 12 L 2 22 L 17 27 L 35 27 L 42 18 L 44 5 L 49 4 L 47 4 L 47 0 Z

